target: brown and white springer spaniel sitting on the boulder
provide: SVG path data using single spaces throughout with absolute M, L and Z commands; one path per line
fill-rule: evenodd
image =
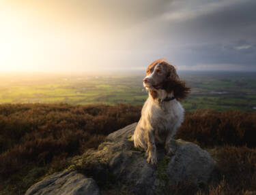
M 190 88 L 164 59 L 147 67 L 143 86 L 149 91 L 149 97 L 141 110 L 133 141 L 135 147 L 145 149 L 147 162 L 156 164 L 156 144 L 165 144 L 167 155 L 173 155 L 171 139 L 184 120 L 184 109 L 179 101 L 186 98 Z

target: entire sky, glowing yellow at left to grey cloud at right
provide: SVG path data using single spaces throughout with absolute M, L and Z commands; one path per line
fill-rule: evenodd
M 256 71 L 255 0 L 0 0 L 0 72 Z

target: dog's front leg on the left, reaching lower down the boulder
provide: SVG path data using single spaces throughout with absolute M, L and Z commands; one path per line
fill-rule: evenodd
M 157 163 L 157 157 L 156 157 L 156 144 L 154 139 L 154 132 L 153 130 L 148 130 L 147 132 L 147 162 L 150 164 L 156 164 Z

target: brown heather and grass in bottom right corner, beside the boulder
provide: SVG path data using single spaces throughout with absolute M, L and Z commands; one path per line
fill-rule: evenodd
M 256 194 L 256 149 L 225 146 L 214 151 L 217 178 L 197 195 Z

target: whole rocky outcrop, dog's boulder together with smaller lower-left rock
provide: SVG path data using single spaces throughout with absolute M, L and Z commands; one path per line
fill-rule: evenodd
M 77 170 L 87 177 L 93 177 L 100 187 L 104 183 L 112 182 L 119 187 L 125 185 L 128 192 L 132 194 L 162 194 L 169 183 L 182 181 L 188 181 L 193 185 L 208 183 L 214 169 L 214 162 L 208 152 L 194 143 L 181 139 L 173 140 L 171 148 L 174 155 L 166 156 L 164 149 L 158 147 L 158 164 L 152 166 L 147 163 L 145 152 L 134 148 L 131 137 L 136 125 L 137 123 L 134 123 L 111 133 L 97 150 L 85 152 L 81 160 L 77 161 L 79 164 L 75 164 Z M 53 175 L 33 185 L 34 187 L 27 191 L 27 195 L 33 194 L 32 192 L 36 191 L 33 189 L 39 189 L 40 186 L 46 186 L 48 190 L 59 189 L 55 192 L 51 191 L 54 194 L 64 192 L 61 190 L 69 190 L 65 191 L 66 194 L 72 194 L 72 189 L 74 191 L 94 189 L 91 192 L 83 191 L 83 193 L 98 193 L 96 183 L 92 179 L 88 180 L 79 175 L 83 181 L 79 179 L 70 181 L 68 178 L 72 177 L 68 176 L 69 174 L 78 175 L 79 173 L 69 172 L 65 176 L 67 179 L 62 179 L 61 182 L 54 179 L 56 175 Z

